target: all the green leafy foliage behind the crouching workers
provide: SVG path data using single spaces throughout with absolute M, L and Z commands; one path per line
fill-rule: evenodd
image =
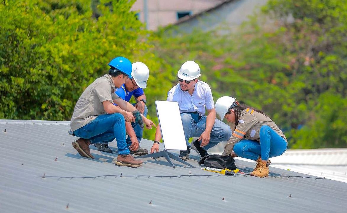
M 0 3 L 0 119 L 69 120 L 83 90 L 122 55 L 150 68 L 145 93 L 157 121 L 154 100 L 165 100 L 181 64 L 194 60 L 215 101 L 236 96 L 264 110 L 289 147 L 347 147 L 346 1 L 269 0 L 236 33 L 190 34 L 144 30 L 133 2 Z

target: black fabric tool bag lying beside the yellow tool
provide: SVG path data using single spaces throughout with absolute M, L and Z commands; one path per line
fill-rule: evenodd
M 235 160 L 231 156 L 224 155 L 206 155 L 201 158 L 199 164 L 204 164 L 205 167 L 212 167 L 217 169 L 230 169 L 235 170 Z

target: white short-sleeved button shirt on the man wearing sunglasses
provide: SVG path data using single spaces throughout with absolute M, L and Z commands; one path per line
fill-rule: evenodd
M 208 110 L 214 108 L 211 88 L 203 81 L 197 81 L 192 95 L 188 91 L 181 90 L 179 83 L 176 84 L 168 92 L 167 101 L 178 102 L 181 113 L 198 112 L 200 115 L 204 115 L 205 107 Z

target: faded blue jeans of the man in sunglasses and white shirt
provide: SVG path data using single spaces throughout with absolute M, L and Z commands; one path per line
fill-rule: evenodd
M 205 131 L 206 118 L 207 117 L 205 115 L 200 116 L 197 113 L 181 113 L 181 120 L 183 124 L 183 131 L 184 136 L 186 138 L 187 147 L 192 147 L 191 144 L 188 142 L 189 138 L 200 137 L 201 134 Z M 231 129 L 227 124 L 221 122 L 218 119 L 215 119 L 210 135 L 210 142 L 208 143 L 208 145 L 202 148 L 204 150 L 208 150 L 221 141 L 229 140 L 231 134 Z M 200 141 L 200 144 L 201 142 L 202 141 Z

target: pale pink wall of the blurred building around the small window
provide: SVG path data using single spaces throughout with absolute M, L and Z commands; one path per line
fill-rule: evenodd
M 177 12 L 191 11 L 191 15 L 213 8 L 225 0 L 137 0 L 133 11 L 139 11 L 139 19 L 145 22 L 144 6 L 147 1 L 147 29 L 175 23 Z

